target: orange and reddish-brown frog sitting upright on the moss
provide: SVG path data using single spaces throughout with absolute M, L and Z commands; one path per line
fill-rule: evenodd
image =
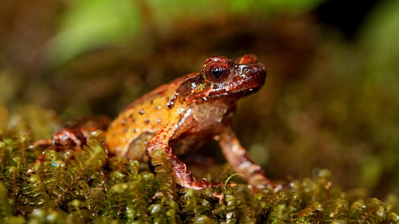
M 161 85 L 120 112 L 105 133 L 109 153 L 152 161 L 153 153 L 160 149 L 172 164 L 172 175 L 180 187 L 220 188 L 221 183 L 195 178 L 179 158 L 216 140 L 226 161 L 248 186 L 278 190 L 249 158 L 231 127 L 238 100 L 259 91 L 265 79 L 265 67 L 254 54 L 234 61 L 209 57 L 199 72 Z

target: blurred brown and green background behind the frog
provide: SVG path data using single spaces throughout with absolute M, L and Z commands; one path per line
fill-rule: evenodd
M 273 179 L 399 195 L 399 1 L 8 0 L 0 4 L 0 138 L 108 114 L 205 58 L 255 53 L 263 90 L 238 105 L 242 144 Z

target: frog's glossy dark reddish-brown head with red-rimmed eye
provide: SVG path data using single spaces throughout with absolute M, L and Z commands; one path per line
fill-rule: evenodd
M 234 62 L 215 56 L 207 58 L 200 73 L 183 82 L 177 94 L 186 102 L 199 98 L 239 98 L 258 91 L 265 78 L 264 65 L 257 63 L 253 54 L 243 55 Z

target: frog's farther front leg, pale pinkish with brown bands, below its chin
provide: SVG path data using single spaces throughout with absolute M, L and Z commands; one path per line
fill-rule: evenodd
M 249 185 L 256 189 L 272 186 L 275 191 L 281 186 L 265 177 L 262 168 L 254 163 L 230 126 L 225 126 L 219 135 L 219 145 L 226 160 L 233 166 L 235 172 L 241 173 Z

